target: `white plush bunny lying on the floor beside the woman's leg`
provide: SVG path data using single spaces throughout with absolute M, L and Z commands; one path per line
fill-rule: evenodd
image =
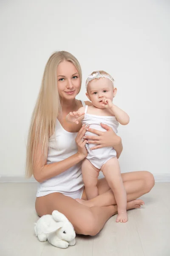
M 54 210 L 52 215 L 43 215 L 35 223 L 34 231 L 41 242 L 48 242 L 59 248 L 76 243 L 74 227 L 64 214 Z

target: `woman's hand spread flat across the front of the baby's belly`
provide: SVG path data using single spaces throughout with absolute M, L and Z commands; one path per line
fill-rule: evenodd
M 96 146 L 91 149 L 103 148 L 103 147 L 113 147 L 122 145 L 121 137 L 116 135 L 113 129 L 105 124 L 101 123 L 101 126 L 107 131 L 98 131 L 95 129 L 89 128 L 88 131 L 97 134 L 98 136 L 85 136 L 85 140 L 88 140 L 88 143 L 96 144 Z

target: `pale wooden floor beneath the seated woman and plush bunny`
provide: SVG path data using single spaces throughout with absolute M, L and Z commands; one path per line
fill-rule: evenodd
M 95 237 L 67 249 L 34 236 L 36 183 L 0 183 L 0 256 L 170 256 L 170 183 L 156 183 L 127 223 L 108 220 Z

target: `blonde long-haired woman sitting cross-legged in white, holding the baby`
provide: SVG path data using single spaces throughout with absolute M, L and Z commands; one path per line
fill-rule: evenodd
M 85 144 L 95 140 L 94 148 L 113 146 L 119 158 L 122 141 L 107 125 L 101 124 L 107 131 L 100 132 L 65 122 L 69 112 L 91 105 L 75 99 L 81 83 L 81 67 L 73 55 L 65 51 L 51 55 L 31 119 L 26 174 L 28 177 L 33 174 L 39 182 L 35 202 L 39 216 L 58 210 L 71 221 L 77 234 L 94 236 L 116 214 L 117 206 L 105 178 L 98 180 L 99 196 L 87 202 L 79 200 L 87 199 L 81 174 L 81 163 L 87 156 Z M 99 135 L 98 140 L 93 136 L 83 140 L 87 129 Z M 129 172 L 122 174 L 122 180 L 127 192 L 127 209 L 139 208 L 144 202 L 135 199 L 152 189 L 153 175 Z

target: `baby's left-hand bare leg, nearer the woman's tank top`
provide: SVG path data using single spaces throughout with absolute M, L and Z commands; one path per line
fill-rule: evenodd
M 97 188 L 99 171 L 100 170 L 93 166 L 88 159 L 85 159 L 82 162 L 82 178 L 85 184 L 85 193 L 88 200 L 99 195 Z

